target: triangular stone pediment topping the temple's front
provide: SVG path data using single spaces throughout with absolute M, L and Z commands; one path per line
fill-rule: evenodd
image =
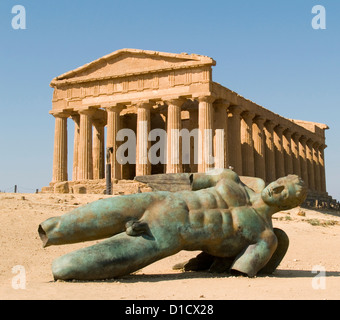
M 122 49 L 64 73 L 53 79 L 51 84 L 84 82 L 215 64 L 212 58 L 195 54 Z

